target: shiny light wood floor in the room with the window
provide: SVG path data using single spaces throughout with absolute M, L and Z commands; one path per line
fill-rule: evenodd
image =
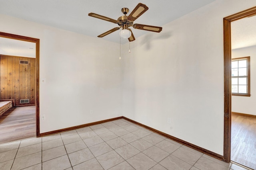
M 232 114 L 231 160 L 256 170 L 256 118 Z

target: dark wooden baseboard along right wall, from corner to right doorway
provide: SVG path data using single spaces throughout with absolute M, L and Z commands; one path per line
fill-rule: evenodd
M 178 143 L 180 143 L 180 144 L 182 144 L 182 145 L 185 145 L 185 146 L 187 146 L 187 147 L 190 147 L 190 148 L 192 148 L 192 149 L 194 149 L 194 150 L 197 150 L 197 151 L 199 151 L 199 152 L 202 152 L 202 153 L 204 153 L 204 154 L 207 154 L 207 155 L 212 156 L 212 157 L 214 157 L 214 158 L 217 158 L 217 159 L 219 159 L 219 160 L 224 160 L 224 156 L 222 156 L 222 155 L 220 155 L 220 154 L 217 154 L 217 153 L 214 153 L 214 152 L 212 152 L 212 151 L 210 151 L 210 150 L 207 150 L 207 149 L 198 147 L 198 146 L 196 146 L 196 145 L 194 145 L 194 144 L 192 144 L 192 143 L 188 143 L 188 142 L 186 142 L 186 141 L 183 141 L 183 140 L 181 140 L 181 139 L 178 139 L 178 138 L 176 138 L 176 137 L 173 137 L 173 136 L 171 136 L 171 135 L 168 135 L 168 134 L 166 134 L 166 133 L 163 133 L 163 132 L 161 132 L 161 131 L 158 131 L 158 130 L 156 130 L 156 129 L 153 129 L 153 128 L 151 128 L 151 127 L 148 127 L 148 126 L 146 126 L 146 125 L 143 125 L 143 124 L 141 124 L 141 123 L 138 123 L 138 122 L 136 122 L 136 121 L 134 121 L 134 120 L 132 120 L 132 119 L 128 119 L 127 117 L 123 117 L 123 118 L 126 119 L 127 121 L 130 121 L 130 122 L 132 122 L 132 123 L 135 123 L 135 124 L 137 124 L 137 125 L 140 125 L 140 126 L 142 126 L 142 127 L 145 127 L 145 128 L 147 128 L 147 129 L 149 129 L 150 131 L 153 131 L 153 132 L 158 133 L 158 134 L 160 134 L 160 135 L 162 135 L 162 136 L 164 136 L 164 137 L 167 137 L 168 139 L 171 139 L 171 140 L 176 141 L 176 142 L 178 142 Z

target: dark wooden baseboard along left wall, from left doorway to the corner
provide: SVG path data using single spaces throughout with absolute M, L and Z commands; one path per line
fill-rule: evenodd
M 108 121 L 114 121 L 114 120 L 122 119 L 122 118 L 123 118 L 123 117 L 115 117 L 115 118 L 112 118 L 112 119 L 106 119 L 106 120 L 102 120 L 102 121 L 96 121 L 96 122 L 92 122 L 92 123 L 86 123 L 86 124 L 84 124 L 84 125 L 78 125 L 78 126 L 68 127 L 68 128 L 59 129 L 59 130 L 56 130 L 56 131 L 50 131 L 50 132 L 40 133 L 40 134 L 39 134 L 39 137 L 43 137 L 43 136 L 47 136 L 47 135 L 53 135 L 53 134 L 61 133 L 61 132 L 65 132 L 65 131 L 71 131 L 71 130 L 79 129 L 79 128 L 82 128 L 82 127 L 87 127 L 87 126 L 92 126 L 92 125 L 98 125 L 98 124 L 101 124 L 101 123 L 105 123 L 105 122 L 108 122 Z

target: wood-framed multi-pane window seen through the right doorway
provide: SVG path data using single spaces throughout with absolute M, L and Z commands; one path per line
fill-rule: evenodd
M 250 57 L 232 59 L 232 95 L 250 97 Z

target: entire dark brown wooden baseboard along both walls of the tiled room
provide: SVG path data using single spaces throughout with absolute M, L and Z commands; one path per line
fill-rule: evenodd
M 195 149 L 199 152 L 202 152 L 204 154 L 207 154 L 209 156 L 212 156 L 214 158 L 217 158 L 219 160 L 224 160 L 224 156 L 220 155 L 220 154 L 217 154 L 217 153 L 214 153 L 210 150 L 207 150 L 207 149 L 204 149 L 204 148 L 201 148 L 201 147 L 198 147 L 192 143 L 188 143 L 186 141 L 183 141 L 181 139 L 178 139 L 176 137 L 173 137 L 171 135 L 168 135 L 166 133 L 163 133 L 161 131 L 158 131 L 156 129 L 153 129 L 152 127 L 148 127 L 146 125 L 143 125 L 142 123 L 138 123 L 132 119 L 129 119 L 127 117 L 124 117 L 124 116 L 121 116 L 121 117 L 116 117 L 116 118 L 112 118 L 112 119 L 106 119 L 106 120 L 103 120 L 103 121 L 96 121 L 96 122 L 93 122 L 93 123 L 87 123 L 87 124 L 84 124 L 84 125 L 78 125 L 78 126 L 73 126 L 73 127 L 68 127 L 68 128 L 64 128 L 64 129 L 59 129 L 59 130 L 56 130 L 56 131 L 50 131 L 50 132 L 46 132 L 46 133 L 40 133 L 39 137 L 43 137 L 43 136 L 47 136 L 47 135 L 52 135 L 52 134 L 56 134 L 56 133 L 61 133 L 61 132 L 64 132 L 64 131 L 70 131 L 70 130 L 75 130 L 75 129 L 79 129 L 79 128 L 82 128 L 82 127 L 87 127 L 87 126 L 92 126 L 92 125 L 98 125 L 100 123 L 105 123 L 105 122 L 108 122 L 108 121 L 114 121 L 114 120 L 118 120 L 118 119 L 125 119 L 127 121 L 130 121 L 132 123 L 135 123 L 136 125 L 139 125 L 139 126 L 142 126 L 150 131 L 153 131 L 155 133 L 158 133 L 159 135 L 162 135 L 164 137 L 167 137 L 168 139 L 171 139 L 173 141 L 176 141 L 182 145 L 185 145 L 187 147 L 190 147 L 192 149 Z

